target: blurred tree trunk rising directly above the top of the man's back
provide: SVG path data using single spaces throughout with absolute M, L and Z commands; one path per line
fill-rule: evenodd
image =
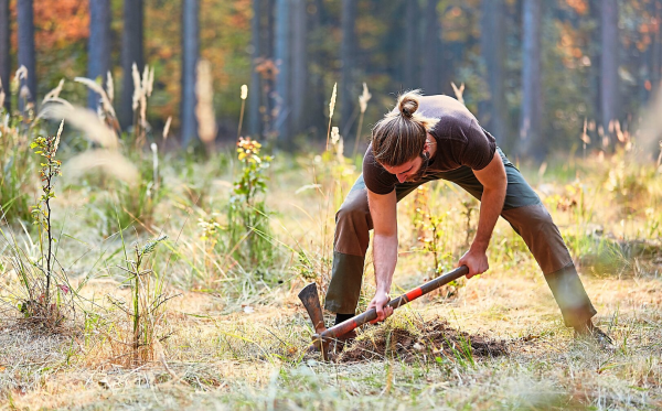
M 441 93 L 442 65 L 441 56 L 441 24 L 437 12 L 438 0 L 426 0 L 424 32 L 423 32 L 423 67 L 420 71 L 420 86 L 425 94 Z

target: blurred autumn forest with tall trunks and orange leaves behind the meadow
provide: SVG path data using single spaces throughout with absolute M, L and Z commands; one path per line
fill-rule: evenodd
M 246 84 L 244 134 L 287 149 L 325 139 L 334 83 L 335 121 L 352 141 L 363 83 L 374 96 L 366 125 L 402 90 L 455 95 L 451 83 L 465 84 L 465 102 L 499 144 L 540 161 L 581 140 L 608 149 L 639 129 L 661 78 L 661 13 L 658 0 L 2 0 L 0 72 L 3 85 L 20 65 L 36 73 L 26 85 L 39 101 L 62 78 L 105 83 L 110 71 L 120 80 L 132 63 L 149 64 L 148 120 L 158 129 L 172 117 L 188 145 L 199 138 L 195 62 L 206 60 L 216 141 L 235 141 Z M 124 78 L 126 128 L 134 89 Z M 85 104 L 83 85 L 64 91 Z

